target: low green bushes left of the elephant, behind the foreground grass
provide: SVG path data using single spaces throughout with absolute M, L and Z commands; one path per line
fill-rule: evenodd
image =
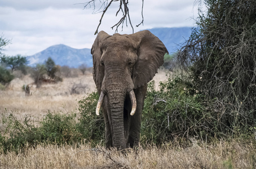
M 80 104 L 80 117 L 76 114 L 55 114 L 48 112 L 38 125 L 26 115 L 22 121 L 13 113 L 3 114 L 2 123 L 6 124 L 4 134 L 0 135 L 0 152 L 19 152 L 26 146 L 36 144 L 73 144 L 80 141 L 92 145 L 102 143 L 104 140 L 103 115 L 95 114 L 99 95 L 93 92 Z

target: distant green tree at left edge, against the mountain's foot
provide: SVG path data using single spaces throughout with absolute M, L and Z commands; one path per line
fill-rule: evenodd
M 24 65 L 28 64 L 27 57 L 16 55 L 16 56 L 2 56 L 0 58 L 1 64 L 11 68 L 11 72 L 18 68 L 24 68 Z

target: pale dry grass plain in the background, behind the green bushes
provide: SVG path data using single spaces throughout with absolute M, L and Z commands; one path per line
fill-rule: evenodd
M 159 71 L 154 77 L 156 86 L 160 81 L 166 79 L 166 72 Z M 29 75 L 23 79 L 14 79 L 8 90 L 0 91 L 0 112 L 13 112 L 16 115 L 25 114 L 39 116 L 46 114 L 48 110 L 52 112 L 72 112 L 77 108 L 77 101 L 86 94 L 95 91 L 95 84 L 91 73 L 79 75 L 75 78 L 64 78 L 63 82 L 56 84 L 43 84 L 40 88 L 33 85 L 30 89 L 31 96 L 25 96 L 22 90 L 24 84 L 30 84 L 33 80 Z M 70 95 L 73 84 L 86 86 L 85 90 L 80 90 L 80 94 Z

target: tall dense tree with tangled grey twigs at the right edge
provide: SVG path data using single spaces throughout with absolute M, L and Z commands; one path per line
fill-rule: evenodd
M 208 11 L 200 12 L 178 60 L 223 125 L 219 130 L 233 133 L 255 124 L 256 1 L 204 2 Z

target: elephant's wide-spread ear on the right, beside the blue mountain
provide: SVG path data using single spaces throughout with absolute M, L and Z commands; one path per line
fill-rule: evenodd
M 157 69 L 164 63 L 164 55 L 168 51 L 155 35 L 143 30 L 129 35 L 137 43 L 138 61 L 134 65 L 133 82 L 138 88 L 147 84 L 157 73 Z

